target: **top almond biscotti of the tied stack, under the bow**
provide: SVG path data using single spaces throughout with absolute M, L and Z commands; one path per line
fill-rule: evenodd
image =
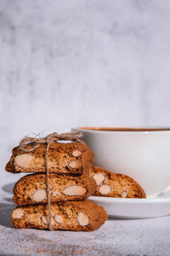
M 31 148 L 31 143 L 26 148 Z M 41 144 L 34 151 L 23 152 L 13 148 L 6 166 L 7 172 L 46 172 L 45 154 L 47 145 Z M 49 172 L 73 175 L 89 174 L 94 154 L 84 143 L 51 143 L 48 149 Z

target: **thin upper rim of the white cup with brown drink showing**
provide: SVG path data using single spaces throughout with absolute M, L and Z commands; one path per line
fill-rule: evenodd
M 114 129 L 114 130 L 111 130 Z M 111 132 L 120 132 L 120 133 L 153 133 L 153 132 L 167 132 L 170 131 L 168 126 L 78 126 L 74 127 L 71 130 L 82 131 L 82 132 L 95 132 L 95 133 L 111 133 Z

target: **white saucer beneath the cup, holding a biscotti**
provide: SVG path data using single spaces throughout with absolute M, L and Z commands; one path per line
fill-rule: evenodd
M 99 206 L 105 207 L 110 218 L 156 218 L 170 214 L 170 192 L 156 198 L 110 198 L 91 196 Z

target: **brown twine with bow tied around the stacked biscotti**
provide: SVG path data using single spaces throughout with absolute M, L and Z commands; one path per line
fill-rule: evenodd
M 45 165 L 46 165 L 46 187 L 47 187 L 47 195 L 48 195 L 48 230 L 53 230 L 52 228 L 52 215 L 51 215 L 51 204 L 50 204 L 50 188 L 49 188 L 49 166 L 48 166 L 48 149 L 51 143 L 57 142 L 57 141 L 72 141 L 72 142 L 78 142 L 82 143 L 82 141 L 79 139 L 82 137 L 81 132 L 65 132 L 58 134 L 57 132 L 48 134 L 47 137 L 37 138 L 37 137 L 25 137 L 20 141 L 19 148 L 20 150 L 28 153 L 31 151 L 34 151 L 36 148 L 38 148 L 41 144 L 46 144 L 46 154 L 45 154 Z M 29 145 L 30 147 L 26 147 Z

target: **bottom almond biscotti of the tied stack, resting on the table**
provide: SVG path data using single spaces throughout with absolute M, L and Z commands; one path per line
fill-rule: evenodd
M 51 212 L 54 230 L 97 230 L 108 219 L 104 207 L 88 200 L 52 203 Z M 48 205 L 16 207 L 11 219 L 15 228 L 48 229 Z

